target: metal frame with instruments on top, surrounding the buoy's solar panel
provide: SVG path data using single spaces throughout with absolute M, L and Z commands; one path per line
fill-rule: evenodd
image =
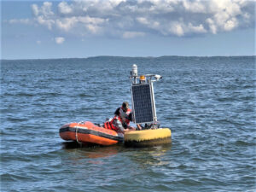
M 153 83 L 154 81 L 158 81 L 160 79 L 162 79 L 162 77 L 160 75 L 157 74 L 146 74 L 146 75 L 138 75 L 137 73 L 137 65 L 133 64 L 132 69 L 131 69 L 131 104 L 132 104 L 132 114 L 133 114 L 133 122 L 135 124 L 154 124 L 155 122 L 157 122 L 157 116 L 156 116 L 156 109 L 155 109 L 155 102 L 154 102 L 154 86 Z M 145 85 L 148 84 L 149 85 L 149 94 L 150 94 L 150 98 L 151 98 L 151 110 L 152 110 L 152 114 L 153 114 L 153 118 L 151 121 L 147 121 L 147 122 L 137 122 L 137 118 L 136 118 L 136 114 L 135 114 L 135 105 L 134 105 L 134 96 L 133 96 L 133 92 L 132 92 L 132 88 L 134 86 L 139 86 L 139 85 Z

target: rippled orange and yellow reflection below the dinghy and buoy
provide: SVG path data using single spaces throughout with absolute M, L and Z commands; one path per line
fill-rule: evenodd
M 79 162 L 87 160 L 91 164 L 104 164 L 102 158 L 110 158 L 113 155 L 127 156 L 140 166 L 160 166 L 169 164 L 169 160 L 163 157 L 171 150 L 172 143 L 151 148 L 125 148 L 122 144 L 113 146 L 100 146 L 95 144 L 80 145 L 76 142 L 62 143 L 63 148 L 69 153 L 68 159 Z

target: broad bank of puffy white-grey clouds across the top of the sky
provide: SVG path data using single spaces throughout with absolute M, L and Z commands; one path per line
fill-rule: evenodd
M 33 22 L 76 35 L 137 38 L 148 33 L 193 36 L 253 27 L 255 1 L 247 0 L 73 0 L 33 3 Z M 9 23 L 28 20 L 9 20 Z M 31 22 L 31 21 L 30 21 Z

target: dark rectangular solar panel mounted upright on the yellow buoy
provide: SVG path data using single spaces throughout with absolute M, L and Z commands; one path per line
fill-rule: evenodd
M 131 95 L 135 123 L 154 122 L 154 103 L 152 102 L 154 95 L 151 91 L 151 84 L 133 84 Z

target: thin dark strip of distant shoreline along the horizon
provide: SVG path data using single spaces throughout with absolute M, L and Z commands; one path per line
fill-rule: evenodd
M 180 55 L 163 55 L 163 56 L 110 56 L 99 55 L 90 57 L 67 57 L 67 58 L 40 58 L 40 59 L 1 59 L 0 61 L 38 61 L 38 60 L 95 60 L 95 59 L 162 59 L 162 58 L 238 58 L 238 57 L 256 57 L 256 55 L 216 55 L 216 56 L 180 56 Z

